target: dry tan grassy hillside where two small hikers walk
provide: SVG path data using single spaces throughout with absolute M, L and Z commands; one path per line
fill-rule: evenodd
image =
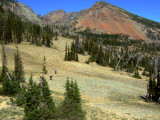
M 140 98 L 140 96 L 146 95 L 148 82 L 146 77 L 137 80 L 132 77 L 132 74 L 124 71 L 115 72 L 109 67 L 102 67 L 96 63 L 88 65 L 85 63 L 88 55 L 79 55 L 80 62 L 66 62 L 64 61 L 64 49 L 66 43 L 70 44 L 71 42 L 71 39 L 59 38 L 58 41 L 53 41 L 54 46 L 51 48 L 37 47 L 26 42 L 18 45 L 27 81 L 30 74 L 33 73 L 34 80 L 39 82 L 41 64 L 43 57 L 46 56 L 48 69 L 46 78 L 57 105 L 63 99 L 66 78 L 70 77 L 77 80 L 81 89 L 87 120 L 159 119 L 159 105 L 146 103 Z M 14 68 L 15 48 L 14 44 L 6 45 L 8 67 L 11 70 Z M 0 49 L 0 56 L 1 53 Z M 55 68 L 58 71 L 57 75 L 54 75 Z M 51 73 L 53 74 L 52 81 L 49 80 Z M 13 113 L 10 109 L 12 106 L 8 104 L 10 104 L 9 98 L 0 97 L 0 113 L 2 113 L 3 119 L 10 119 L 8 116 L 12 116 L 12 119 L 21 119 L 22 109 L 14 107 L 16 113 Z M 10 109 L 9 112 L 8 109 Z

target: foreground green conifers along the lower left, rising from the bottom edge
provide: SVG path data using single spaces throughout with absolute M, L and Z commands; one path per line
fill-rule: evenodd
M 40 77 L 39 85 L 33 82 L 33 77 L 31 75 L 29 79 L 29 84 L 24 87 L 20 83 L 24 82 L 24 72 L 21 68 L 22 61 L 20 58 L 19 50 L 17 48 L 17 53 L 15 54 L 15 70 L 13 76 L 9 77 L 6 73 L 7 59 L 5 54 L 5 48 L 2 46 L 3 51 L 3 62 L 2 62 L 2 94 L 8 96 L 16 96 L 15 100 L 11 98 L 11 102 L 17 104 L 17 106 L 24 107 L 24 119 L 85 119 L 85 114 L 81 107 L 80 92 L 77 83 L 71 84 L 67 80 L 68 86 L 66 86 L 65 100 L 60 108 L 56 108 L 53 98 L 51 96 L 51 91 L 48 86 L 48 82 L 44 78 L 47 74 L 46 70 L 46 58 L 44 57 L 44 63 L 42 65 L 42 76 Z M 23 73 L 23 74 L 22 74 Z M 13 79 L 12 79 L 13 78 Z M 66 83 L 66 85 L 67 85 Z M 68 107 L 70 106 L 70 107 Z M 57 111 L 58 109 L 58 111 Z M 63 111 L 63 112 L 61 112 Z M 67 112 L 68 111 L 68 112 Z M 69 112 L 71 111 L 71 112 Z M 60 114 L 60 116 L 59 116 Z

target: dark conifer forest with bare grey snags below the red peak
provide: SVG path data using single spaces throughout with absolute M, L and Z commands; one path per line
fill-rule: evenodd
M 79 39 L 81 36 L 81 39 Z M 101 66 L 109 66 L 114 70 L 125 70 L 134 73 L 133 77 L 141 79 L 142 75 L 148 76 L 146 99 L 160 100 L 159 72 L 160 58 L 158 57 L 159 42 L 145 42 L 133 40 L 126 35 L 95 34 L 89 28 L 78 33 L 77 39 L 72 43 L 74 51 L 84 55 L 87 52 L 90 58 L 86 63 L 96 62 Z M 67 46 L 66 46 L 67 51 Z M 67 52 L 65 53 L 66 60 Z

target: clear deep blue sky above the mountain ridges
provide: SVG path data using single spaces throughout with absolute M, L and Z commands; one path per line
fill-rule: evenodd
M 90 8 L 99 0 L 18 0 L 37 14 L 45 15 L 57 9 L 75 12 Z M 160 22 L 160 0 L 104 0 L 136 15 Z

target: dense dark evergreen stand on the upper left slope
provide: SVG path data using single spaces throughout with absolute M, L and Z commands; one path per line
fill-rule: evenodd
M 53 37 L 58 39 L 58 34 L 53 31 L 53 27 L 23 21 L 9 10 L 4 10 L 3 4 L 0 5 L 0 43 L 4 41 L 5 44 L 19 44 L 27 41 L 37 46 L 51 47 Z

